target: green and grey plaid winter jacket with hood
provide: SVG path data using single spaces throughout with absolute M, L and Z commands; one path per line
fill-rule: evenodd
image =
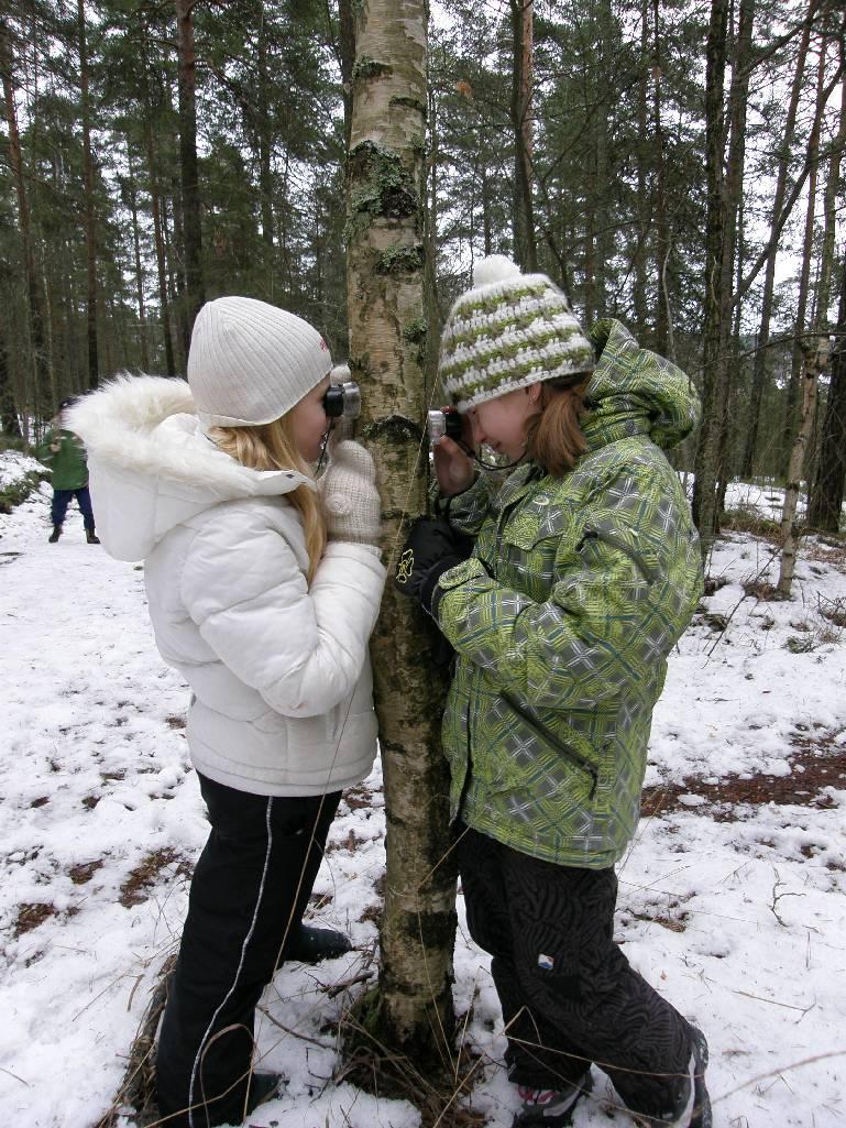
M 564 478 L 523 466 L 442 501 L 475 536 L 435 598 L 457 652 L 443 721 L 452 816 L 558 865 L 601 869 L 640 813 L 667 655 L 702 594 L 696 530 L 661 451 L 698 398 L 618 321 L 591 331 L 599 361 Z

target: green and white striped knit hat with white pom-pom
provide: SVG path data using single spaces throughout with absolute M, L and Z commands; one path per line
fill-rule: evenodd
M 450 310 L 441 338 L 439 371 L 459 412 L 593 368 L 590 342 L 546 274 L 521 274 L 504 255 L 477 263 L 473 289 Z

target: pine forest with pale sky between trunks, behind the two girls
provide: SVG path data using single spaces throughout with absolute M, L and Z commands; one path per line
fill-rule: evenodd
M 346 354 L 367 300 L 345 264 L 352 92 L 380 65 L 355 56 L 354 9 L 2 6 L 7 440 L 121 369 L 184 373 L 196 309 L 221 293 L 284 306 Z M 706 539 L 729 481 L 790 477 L 803 423 L 810 520 L 836 531 L 843 76 L 830 0 L 439 2 L 424 230 L 380 264 L 398 281 L 426 265 L 421 350 L 474 259 L 510 254 L 697 381 L 681 461 Z

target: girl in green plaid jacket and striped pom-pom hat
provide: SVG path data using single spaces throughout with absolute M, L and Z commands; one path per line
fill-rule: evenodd
M 561 1128 L 603 1069 L 640 1123 L 708 1128 L 704 1036 L 614 942 L 667 656 L 702 593 L 663 450 L 698 398 L 618 321 L 585 337 L 544 274 L 492 256 L 440 362 L 464 442 L 434 447 L 437 518 L 395 582 L 456 666 L 443 719 L 470 934 L 493 957 L 514 1128 Z M 476 476 L 473 447 L 512 473 Z M 456 535 L 475 545 L 469 559 Z

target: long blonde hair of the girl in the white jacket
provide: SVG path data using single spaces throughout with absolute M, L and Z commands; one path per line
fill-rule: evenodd
M 210 428 L 209 438 L 241 466 L 253 470 L 293 469 L 311 476 L 311 469 L 293 440 L 290 412 L 273 423 L 258 426 Z M 316 491 L 307 485 L 297 486 L 285 496 L 302 518 L 309 561 L 308 582 L 311 583 L 326 547 L 326 519 Z

